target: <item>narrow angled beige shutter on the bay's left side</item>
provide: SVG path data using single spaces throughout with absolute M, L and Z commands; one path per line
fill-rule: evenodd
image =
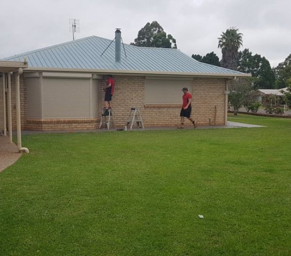
M 27 78 L 27 115 L 28 118 L 41 118 L 40 79 Z

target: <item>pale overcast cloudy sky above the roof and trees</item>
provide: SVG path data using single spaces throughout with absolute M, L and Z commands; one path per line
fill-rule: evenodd
M 188 55 L 217 48 L 229 27 L 243 33 L 243 47 L 271 66 L 291 54 L 291 0 L 0 0 L 0 58 L 72 40 L 69 18 L 80 20 L 76 38 L 114 38 L 121 28 L 129 44 L 157 20 Z

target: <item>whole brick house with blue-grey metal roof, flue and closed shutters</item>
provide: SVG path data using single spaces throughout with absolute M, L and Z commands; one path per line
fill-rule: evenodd
M 97 128 L 108 74 L 116 83 L 112 103 L 117 127 L 124 127 L 131 107 L 140 108 L 147 127 L 176 126 L 182 87 L 193 95 L 192 116 L 198 125 L 209 125 L 210 119 L 212 124 L 226 124 L 227 81 L 249 74 L 197 62 L 178 49 L 124 45 L 124 50 L 121 32 L 115 36 L 112 44 L 90 36 L 2 59 L 28 62 L 20 75 L 22 128 Z M 13 90 L 12 101 L 15 97 Z

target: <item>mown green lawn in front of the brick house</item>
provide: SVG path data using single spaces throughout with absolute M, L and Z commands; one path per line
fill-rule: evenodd
M 23 136 L 0 256 L 290 256 L 291 119 L 229 120 L 266 127 Z

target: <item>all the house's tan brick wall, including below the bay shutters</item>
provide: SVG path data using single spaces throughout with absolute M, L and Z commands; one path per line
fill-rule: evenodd
M 115 127 L 124 128 L 132 107 L 140 108 L 146 127 L 177 126 L 180 123 L 181 105 L 145 105 L 144 76 L 114 76 L 115 90 L 112 101 Z M 16 129 L 15 78 L 12 76 L 13 129 Z M 198 125 L 209 125 L 210 118 L 216 125 L 225 124 L 225 79 L 194 78 L 192 81 L 192 117 Z M 103 81 L 99 84 L 99 115 L 104 104 Z M 181 92 L 182 102 L 182 92 Z M 26 81 L 20 76 L 21 127 L 31 130 L 70 130 L 98 128 L 99 118 L 93 119 L 27 119 Z M 185 125 L 191 125 L 186 120 Z

